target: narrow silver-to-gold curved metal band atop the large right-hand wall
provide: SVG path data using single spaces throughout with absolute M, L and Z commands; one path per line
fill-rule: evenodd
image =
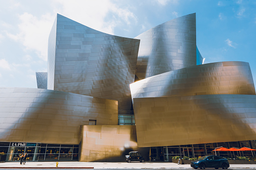
M 246 62 L 218 62 L 162 73 L 130 85 L 132 99 L 205 94 L 255 94 Z

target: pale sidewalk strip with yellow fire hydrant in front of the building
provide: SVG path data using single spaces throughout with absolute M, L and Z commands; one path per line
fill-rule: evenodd
M 58 162 L 58 167 L 94 167 L 94 168 L 191 168 L 190 164 L 177 164 L 172 162 L 78 162 L 78 161 L 60 161 Z M 3 162 L 0 163 L 0 168 L 7 167 L 35 167 L 35 168 L 44 168 L 44 167 L 55 167 L 56 162 L 53 161 L 43 161 L 43 162 L 27 162 L 26 164 L 20 164 L 20 162 Z M 230 164 L 229 168 L 256 168 L 256 164 Z

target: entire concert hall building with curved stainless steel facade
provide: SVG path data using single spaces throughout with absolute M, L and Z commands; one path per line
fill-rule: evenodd
M 160 151 L 168 160 L 212 154 L 218 146 L 256 148 L 249 64 L 203 63 L 196 14 L 135 39 L 58 14 L 48 72 L 36 73 L 38 89 L 0 88 L 2 157 L 122 161 L 140 150 L 146 160 L 157 160 Z

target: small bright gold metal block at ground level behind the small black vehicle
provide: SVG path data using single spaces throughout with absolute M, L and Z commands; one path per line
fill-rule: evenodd
M 79 161 L 125 161 L 130 151 L 148 160 L 149 148 L 138 148 L 135 125 L 80 126 Z

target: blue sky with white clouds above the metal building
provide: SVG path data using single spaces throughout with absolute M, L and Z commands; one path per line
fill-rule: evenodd
M 197 46 L 205 63 L 249 62 L 256 82 L 254 0 L 0 0 L 0 87 L 37 88 L 47 71 L 48 36 L 59 13 L 105 33 L 134 38 L 166 21 L 197 16 Z

